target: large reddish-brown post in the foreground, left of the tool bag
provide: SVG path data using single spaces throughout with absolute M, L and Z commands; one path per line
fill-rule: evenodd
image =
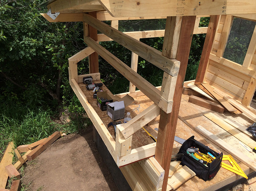
M 169 114 L 166 114 L 163 110 L 160 112 L 155 158 L 166 172 L 169 172 L 171 162 L 171 153 L 181 104 L 183 82 L 188 65 L 188 57 L 195 26 L 195 19 L 196 16 L 184 16 L 182 18 L 181 32 L 176 54 L 176 59 L 181 62 L 181 67 L 178 73 L 174 91 L 172 112 Z M 168 174 L 169 173 L 165 173 L 162 191 L 166 190 Z

